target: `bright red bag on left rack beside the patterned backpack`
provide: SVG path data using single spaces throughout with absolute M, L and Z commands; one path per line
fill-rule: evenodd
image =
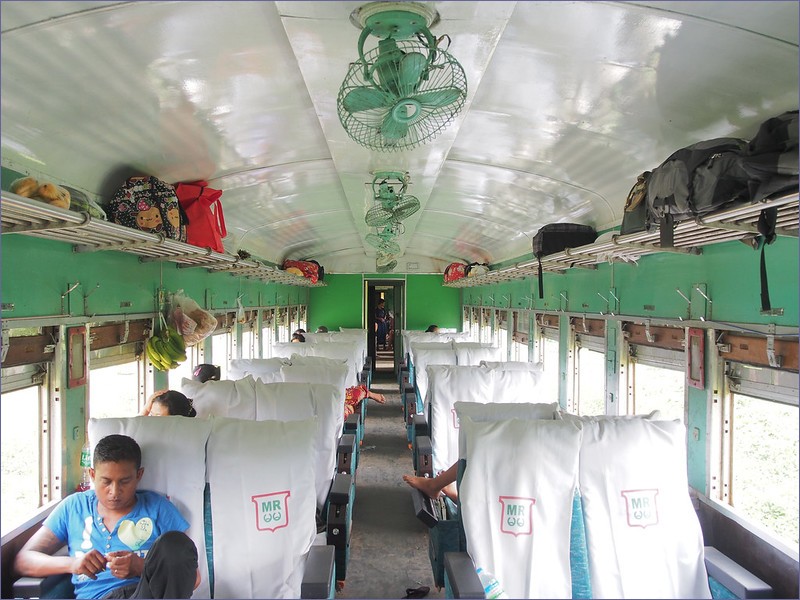
M 208 187 L 206 181 L 194 181 L 177 184 L 175 195 L 189 220 L 186 243 L 224 253 L 222 239 L 228 231 L 220 202 L 222 191 Z

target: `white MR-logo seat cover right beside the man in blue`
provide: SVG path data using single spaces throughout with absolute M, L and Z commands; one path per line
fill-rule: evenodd
M 212 421 L 215 598 L 299 598 L 316 537 L 314 419 Z

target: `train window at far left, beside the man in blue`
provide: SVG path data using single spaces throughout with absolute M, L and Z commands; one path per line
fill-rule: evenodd
M 8 373 L 7 373 L 8 371 Z M 11 371 L 16 371 L 12 373 Z M 27 373 L 25 373 L 27 371 Z M 6 535 L 33 516 L 49 500 L 45 495 L 47 460 L 46 434 L 47 386 L 29 385 L 9 389 L 7 375 L 25 376 L 30 381 L 36 369 L 3 369 L 3 393 L 0 397 L 0 435 L 2 480 L 0 487 L 1 535 Z M 45 413 L 46 414 L 46 413 Z

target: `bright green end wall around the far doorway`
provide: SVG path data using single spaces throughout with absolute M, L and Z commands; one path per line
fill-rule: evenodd
M 403 279 L 402 275 L 326 275 L 326 287 L 310 290 L 308 324 L 310 330 L 319 325 L 329 329 L 363 327 L 363 295 L 365 278 Z M 425 329 L 431 323 L 440 327 L 461 329 L 459 290 L 442 285 L 441 275 L 407 275 L 406 329 Z

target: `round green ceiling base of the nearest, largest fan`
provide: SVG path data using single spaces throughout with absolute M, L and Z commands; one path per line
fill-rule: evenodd
M 350 13 L 350 22 L 380 38 L 404 40 L 439 22 L 439 11 L 421 2 L 368 2 Z

